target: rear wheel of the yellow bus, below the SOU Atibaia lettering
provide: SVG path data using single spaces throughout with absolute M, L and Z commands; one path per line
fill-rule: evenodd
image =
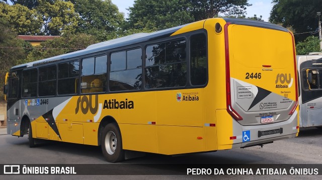
M 122 136 L 115 123 L 107 124 L 104 127 L 101 147 L 103 155 L 108 162 L 124 160 L 125 153 L 122 146 Z

